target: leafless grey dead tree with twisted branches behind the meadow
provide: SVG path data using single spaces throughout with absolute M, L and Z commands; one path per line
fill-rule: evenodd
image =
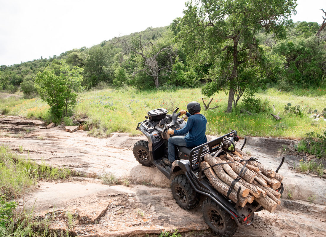
M 135 68 L 133 72 L 133 76 L 135 76 L 140 72 L 145 72 L 147 75 L 154 78 L 155 86 L 156 88 L 158 88 L 159 86 L 158 78 L 161 76 L 169 76 L 169 73 L 172 72 L 171 68 L 173 65 L 173 56 L 175 55 L 173 48 L 170 45 L 152 54 L 150 53 L 150 50 L 153 51 L 154 43 L 152 42 L 142 43 L 141 34 L 140 33 L 138 34 L 139 34 L 139 42 L 137 46 L 129 45 L 126 42 L 126 40 L 121 39 L 120 36 L 115 37 L 117 40 L 116 43 L 121 43 L 125 47 L 124 53 L 128 53 L 131 51 L 142 57 L 143 61 L 140 64 L 143 64 L 143 68 L 138 70 Z M 159 65 L 157 63 L 157 57 L 163 52 L 166 53 L 168 57 L 168 63 L 166 65 Z

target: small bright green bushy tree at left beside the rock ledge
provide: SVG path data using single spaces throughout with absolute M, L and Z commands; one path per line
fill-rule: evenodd
M 35 87 L 40 97 L 50 105 L 51 113 L 56 119 L 68 112 L 75 106 L 77 93 L 82 89 L 83 69 L 78 67 L 69 68 L 63 61 L 59 70 L 46 67 L 43 72 L 38 72 L 35 78 Z

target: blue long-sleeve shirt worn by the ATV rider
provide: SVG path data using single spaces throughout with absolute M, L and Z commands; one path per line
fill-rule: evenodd
M 186 113 L 188 117 L 188 121 L 186 125 L 179 129 L 174 130 L 175 135 L 184 135 L 189 132 L 185 136 L 185 142 L 188 147 L 199 146 L 205 142 L 207 142 L 207 137 L 205 135 L 206 132 L 206 117 L 202 114 L 193 114 Z

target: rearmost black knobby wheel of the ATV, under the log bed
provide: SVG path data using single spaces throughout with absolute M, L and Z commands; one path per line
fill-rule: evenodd
M 212 199 L 207 198 L 202 205 L 204 219 L 209 228 L 218 236 L 229 237 L 237 231 L 237 224 L 231 215 L 219 207 Z

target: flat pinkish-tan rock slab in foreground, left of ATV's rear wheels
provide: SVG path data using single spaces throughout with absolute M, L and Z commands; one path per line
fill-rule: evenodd
M 25 209 L 33 208 L 34 216 L 52 215 L 54 220 L 50 227 L 54 229 L 67 228 L 67 211 L 78 215 L 72 231 L 79 235 L 120 236 L 122 233 L 160 233 L 164 229 L 208 229 L 200 206 L 183 210 L 168 188 L 108 186 L 92 178 L 41 182 L 36 192 L 25 197 L 24 205 Z M 96 232 L 92 232 L 94 230 Z

